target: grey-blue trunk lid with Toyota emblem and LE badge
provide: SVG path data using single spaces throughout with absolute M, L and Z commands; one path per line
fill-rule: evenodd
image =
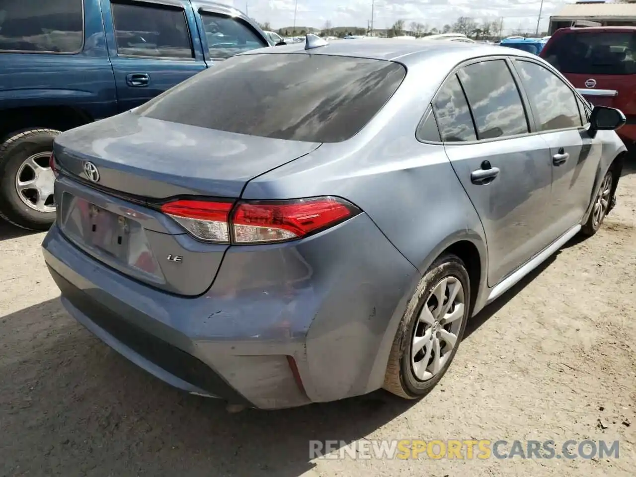
M 162 202 L 192 196 L 233 202 L 253 177 L 319 146 L 124 113 L 55 141 L 57 224 L 111 268 L 195 296 L 211 286 L 229 245 L 195 239 L 160 211 Z

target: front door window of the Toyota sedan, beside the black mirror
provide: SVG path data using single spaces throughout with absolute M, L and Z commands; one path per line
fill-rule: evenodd
M 574 92 L 543 66 L 516 60 L 523 88 L 538 115 L 542 131 L 581 126 L 579 106 Z

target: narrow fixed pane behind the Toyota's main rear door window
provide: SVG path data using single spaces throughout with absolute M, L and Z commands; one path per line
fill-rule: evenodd
M 433 112 L 442 141 L 462 142 L 477 139 L 471 110 L 457 75 L 453 74 L 439 90 L 433 100 Z

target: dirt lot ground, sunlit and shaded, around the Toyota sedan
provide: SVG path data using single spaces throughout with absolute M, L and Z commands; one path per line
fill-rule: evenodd
M 441 385 L 228 414 L 109 350 L 60 306 L 39 244 L 0 224 L 3 476 L 633 476 L 636 164 L 618 206 L 469 323 Z M 605 439 L 619 459 L 310 460 L 309 439 Z

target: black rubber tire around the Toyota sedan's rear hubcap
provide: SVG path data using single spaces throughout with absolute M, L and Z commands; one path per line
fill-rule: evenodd
M 429 300 L 434 287 L 446 277 L 453 277 L 459 280 L 464 293 L 464 314 L 459 331 L 456 333 L 457 342 L 440 371 L 432 378 L 422 381 L 415 376 L 413 365 L 411 364 L 411 343 L 415 333 L 415 326 L 419 322 L 420 311 Z M 425 396 L 439 382 L 448 370 L 448 367 L 457 354 L 459 343 L 461 342 L 466 322 L 470 315 L 470 279 L 466 266 L 462 260 L 453 255 L 445 254 L 439 257 L 424 274 L 417 286 L 415 294 L 409 301 L 406 312 L 400 322 L 396 337 L 389 355 L 389 363 L 384 378 L 384 389 L 396 394 L 396 396 L 406 399 L 417 399 Z

